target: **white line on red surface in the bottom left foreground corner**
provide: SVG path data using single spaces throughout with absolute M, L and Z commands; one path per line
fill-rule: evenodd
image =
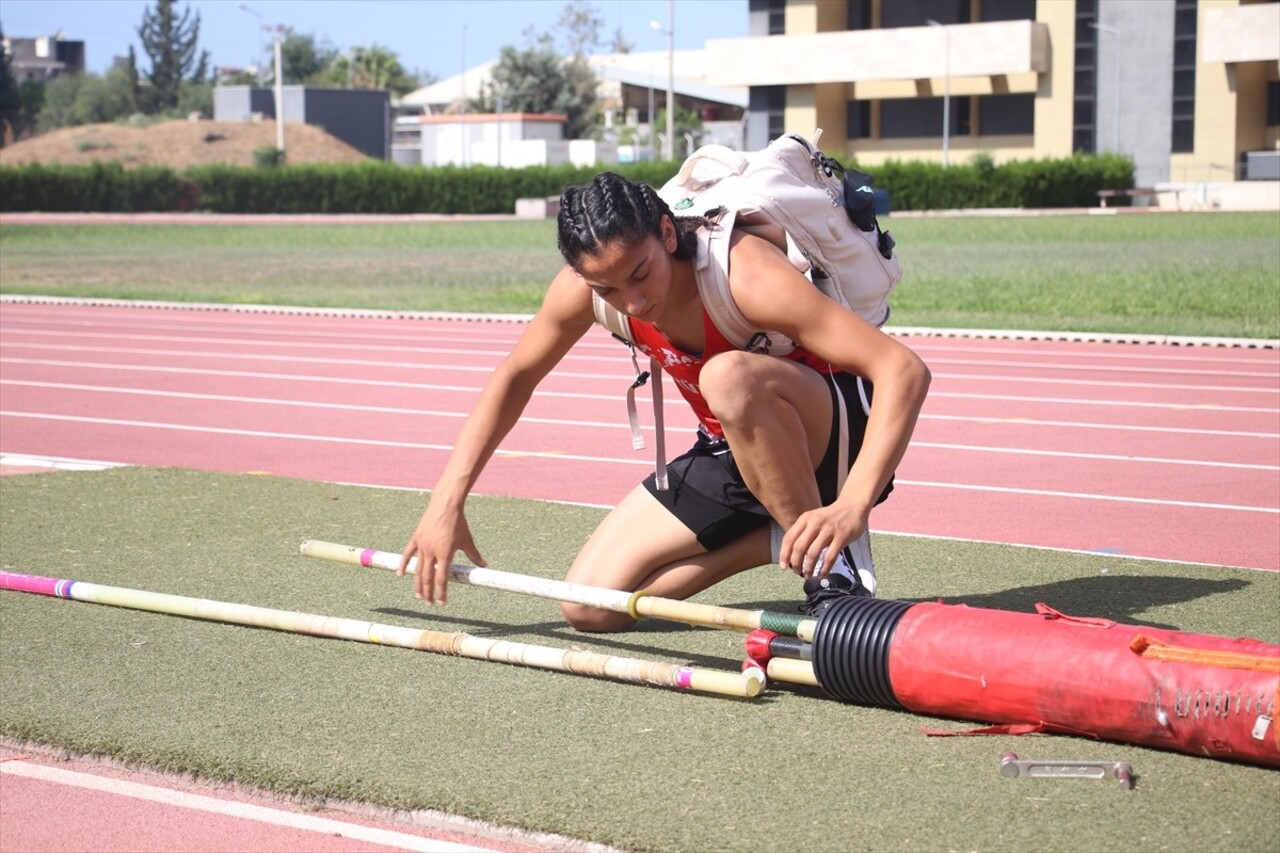
M 339 838 L 349 838 L 352 840 L 366 841 L 369 844 L 381 844 L 384 847 L 392 847 L 401 850 L 424 850 L 425 853 L 497 853 L 493 848 L 486 847 L 458 844 L 456 841 L 424 838 L 421 835 L 410 835 L 408 833 L 397 833 L 374 826 L 364 826 L 361 824 L 347 824 L 346 821 L 338 821 L 329 817 L 316 817 L 315 815 L 298 815 L 296 812 L 269 808 L 266 806 L 237 803 L 234 800 L 205 797 L 204 794 L 170 790 L 168 788 L 143 785 L 141 783 L 111 779 L 109 776 L 96 776 L 93 774 L 79 772 L 76 770 L 33 765 L 27 761 L 5 761 L 0 763 L 0 772 L 10 776 L 22 776 L 24 779 L 54 783 L 56 785 L 96 790 L 105 794 L 114 794 L 116 797 L 128 797 L 129 799 L 160 803 L 163 806 L 189 808 L 198 812 L 209 812 L 211 815 L 223 815 L 227 817 L 238 817 L 241 820 L 255 821 L 257 824 L 284 826 L 288 829 L 306 830 L 308 833 L 321 833 L 324 835 L 337 835 Z

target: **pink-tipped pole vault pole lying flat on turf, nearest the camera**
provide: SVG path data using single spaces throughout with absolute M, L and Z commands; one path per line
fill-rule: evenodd
M 113 607 L 145 610 L 154 613 L 187 616 L 189 619 L 230 622 L 251 628 L 270 628 L 294 634 L 347 639 L 357 643 L 399 646 L 401 648 L 434 652 L 436 654 L 470 657 L 480 661 L 500 661 L 517 666 L 557 670 L 575 675 L 612 679 L 614 681 L 678 688 L 699 693 L 751 698 L 764 690 L 764 676 L 759 670 L 754 669 L 746 672 L 723 672 L 692 666 L 617 657 L 614 654 L 600 654 L 596 652 L 485 639 L 463 633 L 381 625 L 358 619 L 273 610 L 255 605 L 189 598 L 187 596 L 172 596 L 124 587 L 105 587 L 83 580 L 41 578 L 10 571 L 0 571 L 0 589 L 13 589 L 56 598 L 73 598 L 97 605 L 111 605 Z

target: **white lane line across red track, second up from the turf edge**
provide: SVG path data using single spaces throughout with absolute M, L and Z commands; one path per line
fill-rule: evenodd
M 0 416 L 4 418 L 27 418 L 33 420 L 52 420 L 52 421 L 68 421 L 68 423 L 81 423 L 81 424 L 99 424 L 105 426 L 128 426 L 140 429 L 166 429 L 177 432 L 189 432 L 189 433 L 211 433 L 216 435 L 238 435 L 247 438 L 276 438 L 284 441 L 305 441 L 305 442 L 325 442 L 333 444 L 358 444 L 370 447 L 397 447 L 404 450 L 429 450 L 440 452 L 452 452 L 452 444 L 422 444 L 417 442 L 392 442 L 383 439 L 371 438 L 347 438 L 342 435 L 307 435 L 301 433 L 274 433 L 268 430 L 257 429 L 230 429 L 221 426 L 195 426 L 186 424 L 165 424 L 146 420 L 125 420 L 114 418 L 83 418 L 74 415 L 52 415 L 46 412 L 26 412 L 26 411 L 8 411 L 0 410 Z M 536 459 L 553 459 L 553 460 L 573 460 L 584 462 L 607 462 L 612 465 L 643 465 L 649 467 L 653 465 L 652 460 L 635 460 L 635 459 L 618 459 L 611 456 L 581 456 L 577 453 L 562 453 L 558 451 L 515 451 L 515 450 L 498 450 L 494 453 L 495 457 L 518 459 L 518 457 L 536 457 Z M 906 480 L 899 479 L 901 485 L 920 485 L 925 488 L 948 488 L 948 489 L 968 489 L 977 492 L 1000 492 L 1011 494 L 1034 494 L 1034 496 L 1050 496 L 1050 497 L 1065 497 L 1065 498 L 1079 498 L 1087 501 L 1117 501 L 1124 503 L 1151 503 L 1157 506 L 1180 506 L 1180 507 L 1196 507 L 1203 510 L 1229 510 L 1235 512 L 1268 512 L 1280 514 L 1280 507 L 1270 506 L 1240 506 L 1234 503 L 1207 503 L 1201 501 L 1167 501 L 1161 498 L 1138 498 L 1138 497 L 1124 497 L 1116 494 L 1089 494 L 1084 492 L 1053 492 L 1047 489 L 1023 489 L 1001 485 L 978 485 L 968 483 L 931 483 L 927 480 Z

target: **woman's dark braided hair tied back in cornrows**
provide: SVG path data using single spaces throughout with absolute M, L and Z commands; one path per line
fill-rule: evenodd
M 614 240 L 640 242 L 653 236 L 662 240 L 662 218 L 676 227 L 675 256 L 698 256 L 698 228 L 701 216 L 675 216 L 671 207 L 648 183 L 627 181 L 614 172 L 602 172 L 580 187 L 561 195 L 556 245 L 564 261 L 577 269 L 584 255 L 598 254 Z

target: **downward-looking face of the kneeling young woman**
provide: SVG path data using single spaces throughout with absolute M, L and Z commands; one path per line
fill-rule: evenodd
M 652 234 L 640 241 L 616 240 L 579 261 L 577 272 L 588 287 L 623 314 L 645 323 L 660 319 L 671 291 L 676 229 L 667 218 L 662 225 L 662 240 Z

